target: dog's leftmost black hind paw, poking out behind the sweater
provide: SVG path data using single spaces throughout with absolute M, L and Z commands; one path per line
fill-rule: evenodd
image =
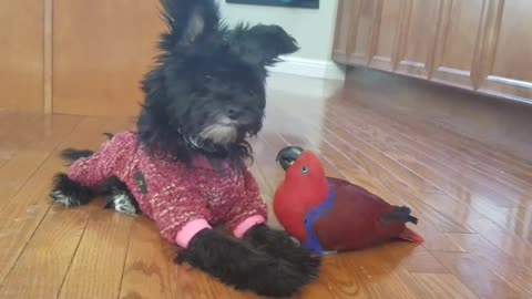
M 65 207 L 84 206 L 94 199 L 95 194 L 89 187 L 72 181 L 64 173 L 55 175 L 50 195 L 54 203 Z

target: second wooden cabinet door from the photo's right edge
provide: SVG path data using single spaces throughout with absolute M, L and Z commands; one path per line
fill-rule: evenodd
M 479 85 L 480 42 L 489 0 L 444 0 L 432 80 L 466 89 Z

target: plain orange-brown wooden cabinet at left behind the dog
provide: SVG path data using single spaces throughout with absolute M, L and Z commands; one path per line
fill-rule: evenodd
M 136 115 L 158 0 L 0 0 L 0 112 Z

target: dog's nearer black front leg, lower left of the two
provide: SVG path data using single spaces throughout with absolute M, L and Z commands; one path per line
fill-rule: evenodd
M 295 296 L 316 279 L 296 265 L 209 230 L 200 233 L 176 261 L 187 262 L 237 290 L 266 297 Z

